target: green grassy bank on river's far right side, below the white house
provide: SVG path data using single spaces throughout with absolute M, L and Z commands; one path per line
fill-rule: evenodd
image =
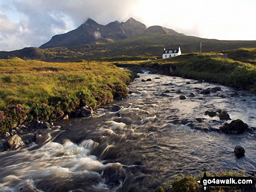
M 148 67 L 161 74 L 205 80 L 256 94 L 256 65 L 251 64 L 255 62 L 256 50 L 242 49 L 242 51 L 245 51 L 248 56 L 242 57 L 236 54 L 241 53 L 239 49 L 224 52 L 230 53 L 228 58 L 225 58 L 222 53 L 191 53 L 168 59 L 120 61 L 115 64 L 119 67 Z

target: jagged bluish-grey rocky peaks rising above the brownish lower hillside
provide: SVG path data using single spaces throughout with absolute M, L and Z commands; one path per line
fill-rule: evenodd
M 130 18 L 125 23 L 114 21 L 107 25 L 101 25 L 92 19 L 88 19 L 75 30 L 53 36 L 50 41 L 39 48 L 72 47 L 88 44 L 103 38 L 122 40 L 136 37 L 142 34 L 145 29 L 146 26 L 144 24 L 133 18 Z

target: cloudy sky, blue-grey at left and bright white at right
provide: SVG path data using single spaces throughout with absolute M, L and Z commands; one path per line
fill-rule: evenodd
M 256 0 L 0 0 L 0 51 L 39 47 L 87 18 L 130 17 L 191 36 L 256 40 Z

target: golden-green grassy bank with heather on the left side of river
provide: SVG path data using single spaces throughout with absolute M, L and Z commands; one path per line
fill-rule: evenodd
M 123 98 L 135 74 L 108 62 L 0 60 L 0 132 L 34 120 L 54 121 L 76 108 Z

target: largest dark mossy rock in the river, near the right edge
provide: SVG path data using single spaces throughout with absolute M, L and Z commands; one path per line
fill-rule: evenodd
M 219 129 L 224 133 L 236 133 L 241 134 L 248 128 L 248 125 L 244 123 L 242 120 L 237 119 L 234 121 L 231 121 L 231 123 L 225 123 L 222 127 Z

